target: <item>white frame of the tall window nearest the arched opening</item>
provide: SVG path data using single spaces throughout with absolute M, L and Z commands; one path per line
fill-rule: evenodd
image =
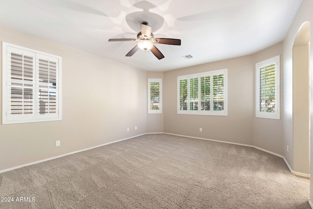
M 275 64 L 275 113 L 260 111 L 260 73 L 259 70 Z M 280 119 L 280 55 L 255 64 L 255 117 Z

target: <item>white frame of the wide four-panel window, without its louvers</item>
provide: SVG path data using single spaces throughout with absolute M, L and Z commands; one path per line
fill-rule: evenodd
M 213 109 L 213 76 L 224 75 L 224 110 Z M 210 110 L 201 110 L 201 77 L 210 76 Z M 198 110 L 190 110 L 190 79 L 198 78 Z M 180 80 L 187 80 L 187 110 L 180 110 Z M 200 104 L 200 106 L 199 106 Z M 177 114 L 227 116 L 227 69 L 181 75 L 177 77 Z

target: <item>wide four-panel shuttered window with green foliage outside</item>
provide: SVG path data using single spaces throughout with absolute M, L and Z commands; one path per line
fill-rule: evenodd
M 227 69 L 177 77 L 178 114 L 227 116 Z

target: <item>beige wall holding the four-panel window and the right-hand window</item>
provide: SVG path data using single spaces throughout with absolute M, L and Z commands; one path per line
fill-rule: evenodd
M 255 117 L 255 64 L 281 55 L 282 80 L 282 53 L 279 43 L 253 55 L 164 72 L 164 132 L 253 145 L 282 155 L 283 115 L 279 120 Z M 177 76 L 221 69 L 228 69 L 228 116 L 177 114 Z

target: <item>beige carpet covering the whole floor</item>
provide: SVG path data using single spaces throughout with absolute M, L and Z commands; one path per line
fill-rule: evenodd
M 1 209 L 310 209 L 283 159 L 165 134 L 1 173 L 0 197 L 14 199 Z

